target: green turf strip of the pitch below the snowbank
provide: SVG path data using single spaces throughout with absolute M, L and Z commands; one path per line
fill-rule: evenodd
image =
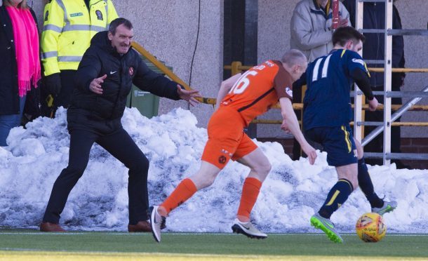
M 364 243 L 355 234 L 345 243 L 330 242 L 323 234 L 269 234 L 265 240 L 236 234 L 152 234 L 118 232 L 40 233 L 0 230 L 0 251 L 55 251 L 62 253 L 173 253 L 191 255 L 428 257 L 428 235 L 388 234 L 378 243 Z M 1 258 L 0 258 L 1 259 Z

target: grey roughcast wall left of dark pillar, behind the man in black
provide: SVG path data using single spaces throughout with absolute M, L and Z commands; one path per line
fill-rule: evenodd
M 135 41 L 156 58 L 173 67 L 189 83 L 190 65 L 198 29 L 198 0 L 112 0 L 119 16 L 133 22 Z M 41 20 L 44 1 L 34 0 L 34 11 Z M 223 1 L 201 0 L 199 39 L 194 55 L 191 86 L 205 97 L 215 97 L 222 81 Z M 175 107 L 188 108 L 187 102 L 161 98 L 159 114 Z M 213 107 L 199 105 L 191 111 L 199 125 L 206 126 Z

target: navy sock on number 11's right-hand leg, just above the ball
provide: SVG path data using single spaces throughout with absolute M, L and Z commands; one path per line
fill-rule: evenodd
M 361 191 L 366 195 L 368 202 L 372 208 L 381 208 L 383 206 L 383 200 L 377 196 L 375 189 L 373 188 L 373 182 L 368 174 L 366 161 L 364 158 L 358 161 L 358 182 Z

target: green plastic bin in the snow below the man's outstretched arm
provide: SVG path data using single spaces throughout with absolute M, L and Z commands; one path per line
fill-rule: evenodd
M 143 58 L 143 60 L 149 69 L 152 69 L 152 71 L 157 72 L 158 74 L 165 75 L 161 70 L 154 66 L 152 62 L 149 62 L 149 60 L 145 58 Z M 165 64 L 165 62 L 162 63 Z M 173 68 L 168 67 L 168 69 L 172 70 Z M 157 116 L 159 112 L 159 96 L 153 95 L 147 91 L 141 91 L 137 86 L 133 85 L 131 93 L 129 93 L 127 98 L 126 107 L 135 107 L 142 115 L 147 118 L 152 118 L 153 116 Z

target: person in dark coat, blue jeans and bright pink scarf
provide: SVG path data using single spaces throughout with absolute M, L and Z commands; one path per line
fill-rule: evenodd
M 41 74 L 36 15 L 26 0 L 3 0 L 0 6 L 0 58 L 0 146 L 7 146 Z

